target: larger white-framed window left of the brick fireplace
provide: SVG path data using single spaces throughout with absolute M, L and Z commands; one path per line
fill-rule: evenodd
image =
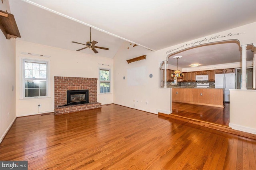
M 23 98 L 46 97 L 48 62 L 23 59 Z

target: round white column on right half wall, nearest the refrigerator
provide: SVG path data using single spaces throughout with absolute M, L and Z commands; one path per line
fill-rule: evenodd
M 247 45 L 242 45 L 242 77 L 241 77 L 241 90 L 246 90 L 246 47 Z

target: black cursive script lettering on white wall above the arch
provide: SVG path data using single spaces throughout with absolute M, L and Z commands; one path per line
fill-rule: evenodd
M 225 38 L 225 37 L 234 37 L 234 36 L 239 36 L 242 34 L 246 34 L 246 33 L 245 32 L 244 33 L 237 32 L 237 33 L 229 33 L 226 35 L 218 35 L 218 36 L 214 36 L 211 38 L 204 38 L 203 40 L 199 40 L 199 41 L 192 42 L 192 43 L 186 43 L 178 48 L 173 48 L 171 50 L 168 50 L 168 51 L 166 51 L 166 54 L 171 53 L 173 51 L 177 51 L 178 49 L 181 49 L 184 47 L 191 47 L 191 46 L 193 47 L 194 45 L 200 45 L 202 42 L 211 42 L 212 40 L 221 39 L 221 38 Z

